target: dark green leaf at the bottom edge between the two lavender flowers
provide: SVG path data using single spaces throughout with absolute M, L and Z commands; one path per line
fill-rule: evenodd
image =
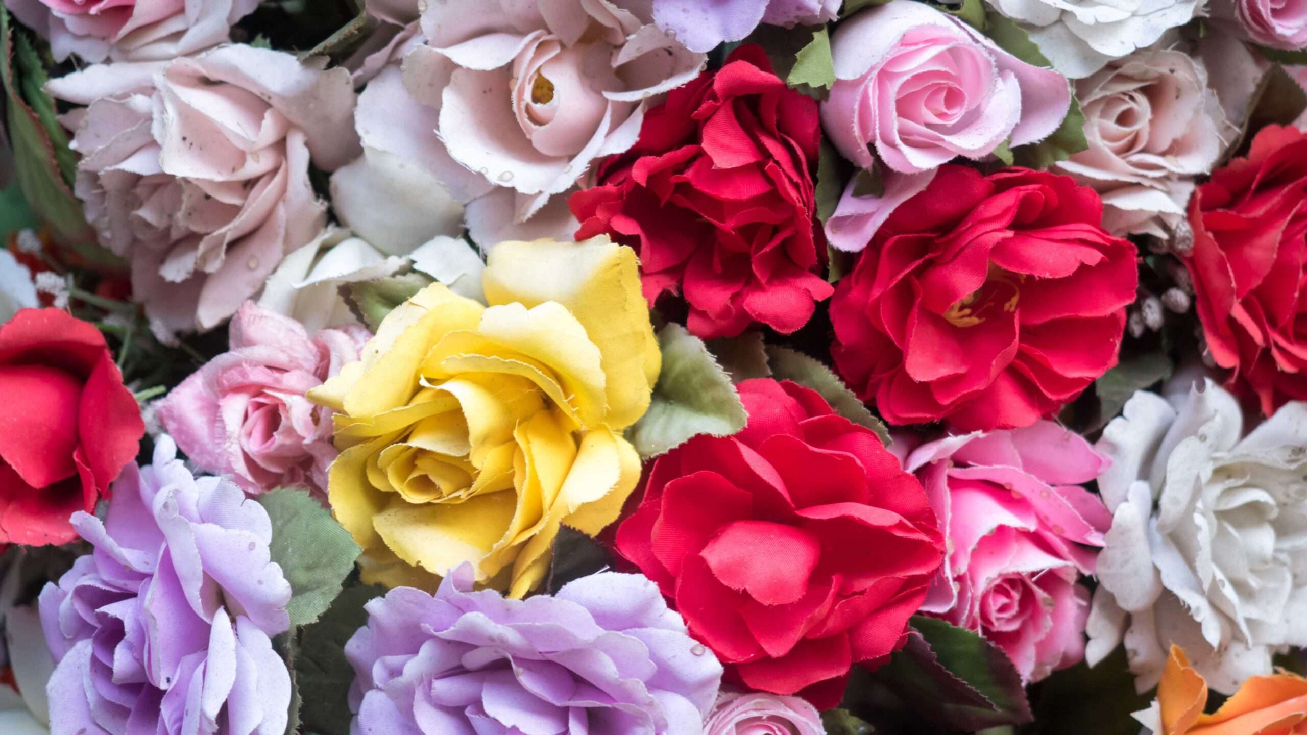
M 382 587 L 346 587 L 312 625 L 302 628 L 289 646 L 294 683 L 289 734 L 349 735 L 349 685 L 354 668 L 345 659 L 345 643 L 367 624 L 369 600 L 386 594 Z M 308 702 L 308 708 L 301 708 Z M 302 727 L 302 730 L 299 730 Z

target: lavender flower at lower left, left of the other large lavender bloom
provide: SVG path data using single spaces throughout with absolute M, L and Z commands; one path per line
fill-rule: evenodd
M 290 674 L 272 637 L 290 626 L 290 583 L 269 557 L 272 521 L 175 455 L 159 437 L 154 463 L 114 483 L 103 522 L 73 515 L 95 551 L 39 602 L 56 735 L 286 730 Z

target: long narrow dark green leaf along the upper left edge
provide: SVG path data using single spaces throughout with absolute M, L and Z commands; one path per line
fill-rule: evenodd
M 0 77 L 18 187 L 60 245 L 76 248 L 91 264 L 120 264 L 111 252 L 95 245 L 95 233 L 86 224 L 82 204 L 68 186 L 72 178 L 71 173 L 65 178 L 72 156 L 68 136 L 54 120 L 54 101 L 41 89 L 46 73 L 26 34 L 13 25 L 9 10 L 0 8 L 0 42 L 4 44 Z M 26 97 L 29 94 L 31 97 Z

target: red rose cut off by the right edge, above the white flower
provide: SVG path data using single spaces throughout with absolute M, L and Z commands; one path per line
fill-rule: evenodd
M 1307 399 L 1307 135 L 1265 127 L 1189 201 L 1185 265 L 1230 387 L 1270 416 Z

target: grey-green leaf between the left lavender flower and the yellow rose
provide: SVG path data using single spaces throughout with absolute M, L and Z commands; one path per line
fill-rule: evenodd
M 363 549 L 303 490 L 264 493 L 259 505 L 272 518 L 272 560 L 290 582 L 290 625 L 307 625 L 331 606 Z

